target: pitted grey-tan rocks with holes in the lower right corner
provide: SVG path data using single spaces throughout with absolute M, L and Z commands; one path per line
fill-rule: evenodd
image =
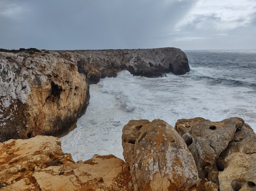
M 256 190 L 256 134 L 244 120 L 178 120 L 175 129 L 191 151 L 206 190 Z

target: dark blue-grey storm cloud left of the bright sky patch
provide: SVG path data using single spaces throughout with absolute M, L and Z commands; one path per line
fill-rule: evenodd
M 1 48 L 154 48 L 196 0 L 0 2 Z M 165 43 L 166 44 L 166 43 Z

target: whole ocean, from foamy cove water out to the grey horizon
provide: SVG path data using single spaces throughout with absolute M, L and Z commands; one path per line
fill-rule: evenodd
M 241 117 L 256 132 L 256 51 L 186 50 L 191 71 L 146 78 L 121 71 L 90 85 L 90 104 L 77 128 L 61 137 L 73 159 L 122 156 L 122 128 L 129 120 Z

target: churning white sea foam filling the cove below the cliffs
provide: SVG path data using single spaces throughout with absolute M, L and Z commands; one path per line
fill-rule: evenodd
M 78 119 L 77 128 L 61 138 L 63 151 L 74 160 L 87 160 L 94 154 L 123 158 L 122 128 L 132 119 L 162 119 L 174 126 L 181 118 L 241 117 L 256 131 L 256 97 L 248 93 L 250 88 L 209 85 L 207 80 L 193 78 L 203 68 L 191 68 L 183 76 L 163 78 L 135 77 L 122 71 L 116 78 L 90 85 L 87 112 Z M 206 68 L 201 73 L 218 75 Z

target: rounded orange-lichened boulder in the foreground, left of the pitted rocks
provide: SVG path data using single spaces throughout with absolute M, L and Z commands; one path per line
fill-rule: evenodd
M 122 146 L 134 191 L 180 191 L 195 186 L 198 172 L 186 144 L 163 120 L 131 120 L 123 128 Z

